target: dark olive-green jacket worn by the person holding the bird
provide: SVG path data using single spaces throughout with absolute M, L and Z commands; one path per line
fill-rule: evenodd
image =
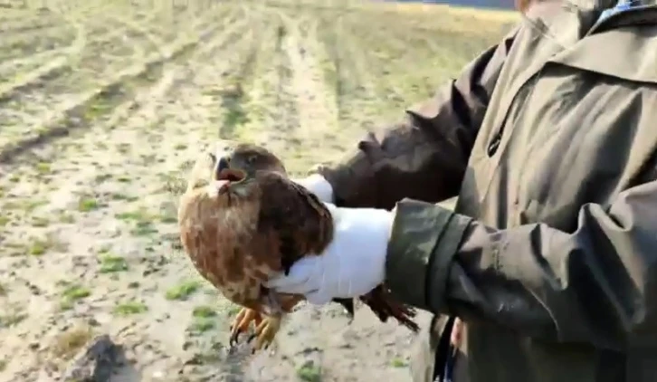
M 462 318 L 472 382 L 657 381 L 650 1 L 598 24 L 593 0 L 532 5 L 432 100 L 319 167 L 338 205 L 396 205 L 386 284 Z M 452 196 L 455 213 L 434 205 Z

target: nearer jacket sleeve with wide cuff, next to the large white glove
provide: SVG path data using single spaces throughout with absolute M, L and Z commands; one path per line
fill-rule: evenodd
M 437 205 L 396 207 L 386 284 L 402 301 L 602 349 L 657 343 L 657 180 L 581 207 L 574 233 L 498 230 Z M 432 226 L 433 225 L 433 226 Z

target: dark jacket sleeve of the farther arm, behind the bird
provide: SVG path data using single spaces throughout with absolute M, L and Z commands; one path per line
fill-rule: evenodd
M 402 121 L 367 134 L 336 166 L 320 166 L 335 203 L 391 209 L 404 197 L 456 196 L 514 35 L 470 62 L 433 99 L 406 110 Z

